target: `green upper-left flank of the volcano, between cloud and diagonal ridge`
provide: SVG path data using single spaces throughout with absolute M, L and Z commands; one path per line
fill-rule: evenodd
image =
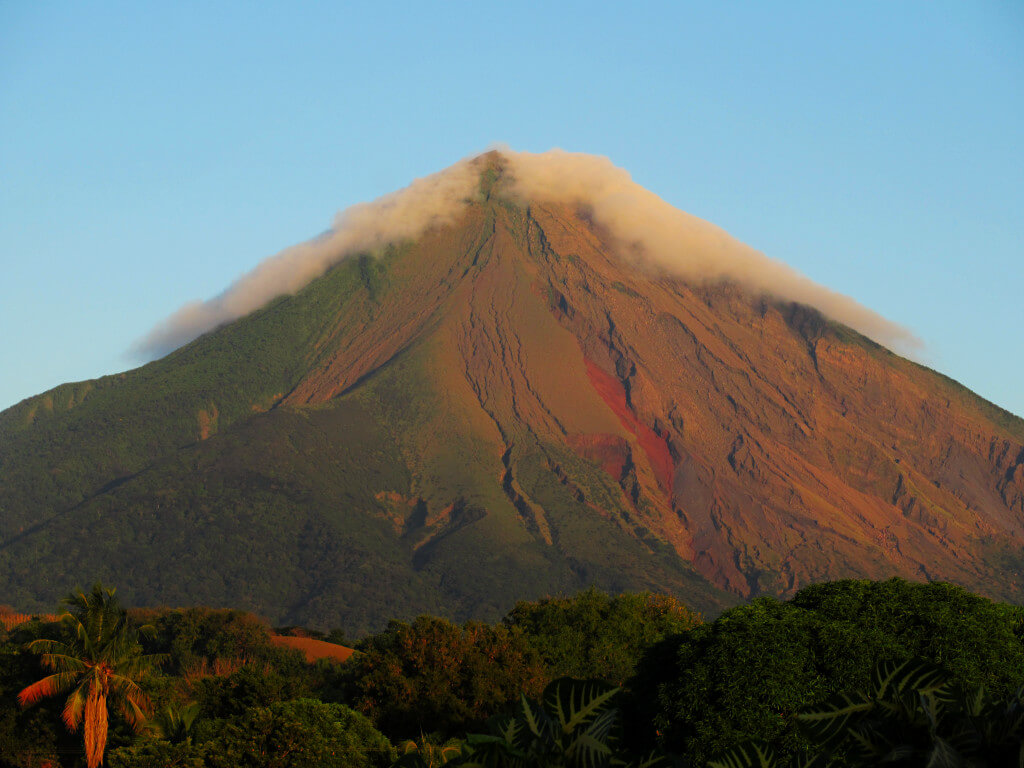
M 181 447 L 273 406 L 323 351 L 338 307 L 369 299 L 359 259 L 134 371 L 0 414 L 0 539 L 9 542 Z M 380 281 L 374 279 L 374 285 Z

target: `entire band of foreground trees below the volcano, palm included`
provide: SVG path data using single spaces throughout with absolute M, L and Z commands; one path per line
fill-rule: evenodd
M 1024 608 L 942 583 L 820 584 L 712 622 L 592 589 L 357 642 L 125 610 L 100 585 L 60 610 L 0 612 L 3 768 L 1024 765 Z

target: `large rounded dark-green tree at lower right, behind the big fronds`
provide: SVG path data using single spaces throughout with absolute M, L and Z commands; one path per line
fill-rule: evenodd
M 863 689 L 879 662 L 921 657 L 955 684 L 1009 695 L 1024 683 L 1020 627 L 1020 608 L 940 583 L 843 581 L 760 598 L 647 654 L 630 682 L 633 732 L 693 765 L 751 738 L 785 760 L 810 755 L 793 715 Z

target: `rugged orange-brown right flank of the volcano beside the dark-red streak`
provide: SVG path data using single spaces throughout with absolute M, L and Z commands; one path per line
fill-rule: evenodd
M 663 504 L 701 573 L 749 595 L 895 572 L 1019 597 L 995 553 L 1022 541 L 1024 422 L 806 307 L 627 274 L 572 212 L 534 215 L 580 256 L 563 323 L 664 439 Z

